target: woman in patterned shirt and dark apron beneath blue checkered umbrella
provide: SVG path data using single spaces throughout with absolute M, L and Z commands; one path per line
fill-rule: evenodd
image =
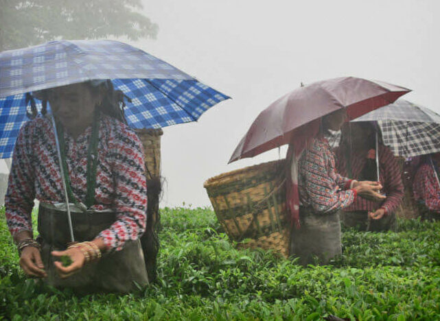
M 110 80 L 92 80 L 38 96 L 49 102 L 56 131 L 44 111 L 21 128 L 5 196 L 21 268 L 55 287 L 130 292 L 147 285 L 139 242 L 147 209 L 143 148 L 124 123 L 120 95 Z M 62 180 L 79 243 L 69 243 Z M 34 198 L 40 202 L 37 239 L 31 218 Z

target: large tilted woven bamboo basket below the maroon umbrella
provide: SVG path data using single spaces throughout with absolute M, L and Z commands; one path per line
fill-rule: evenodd
M 288 257 L 285 160 L 209 178 L 203 185 L 217 218 L 242 248 L 264 248 Z

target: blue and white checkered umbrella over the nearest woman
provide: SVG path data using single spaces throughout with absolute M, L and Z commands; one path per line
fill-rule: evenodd
M 3 51 L 0 158 L 12 155 L 19 129 L 28 120 L 27 93 L 104 79 L 111 79 L 115 89 L 131 99 L 125 115 L 132 128 L 196 121 L 203 112 L 229 98 L 171 64 L 118 41 L 60 40 Z

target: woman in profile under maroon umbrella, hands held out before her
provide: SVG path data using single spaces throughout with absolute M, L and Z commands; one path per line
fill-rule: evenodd
M 323 117 L 319 136 L 312 139 L 299 158 L 300 227 L 292 228 L 290 252 L 303 265 L 313 263 L 314 257 L 325 264 L 341 254 L 339 211 L 352 204 L 357 195 L 384 198 L 378 193 L 382 189 L 378 182 L 358 182 L 336 171 L 326 136 L 329 130 L 340 130 L 346 119 L 345 109 Z

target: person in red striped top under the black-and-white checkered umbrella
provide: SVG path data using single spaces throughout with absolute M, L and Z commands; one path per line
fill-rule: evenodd
M 356 198 L 341 212 L 345 226 L 358 230 L 395 230 L 397 220 L 395 210 L 404 197 L 402 173 L 397 160 L 389 147 L 378 137 L 378 151 L 375 150 L 375 128 L 368 122 L 347 123 L 342 129 L 342 139 L 336 148 L 336 169 L 338 172 L 356 180 L 378 180 L 386 195 L 382 202 L 369 198 Z M 375 153 L 379 157 L 379 173 Z

